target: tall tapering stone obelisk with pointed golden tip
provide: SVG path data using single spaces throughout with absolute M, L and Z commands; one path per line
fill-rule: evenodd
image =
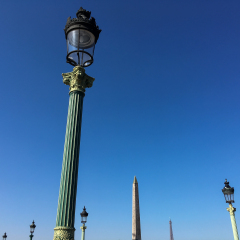
M 133 180 L 133 203 L 132 203 L 132 240 L 141 240 L 140 209 L 138 182 L 136 176 Z

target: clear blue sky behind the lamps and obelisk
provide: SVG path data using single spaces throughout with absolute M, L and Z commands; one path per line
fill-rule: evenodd
M 68 86 L 63 28 L 82 6 L 102 29 L 84 99 L 76 240 L 233 239 L 240 228 L 240 1 L 1 1 L 0 234 L 53 238 Z

